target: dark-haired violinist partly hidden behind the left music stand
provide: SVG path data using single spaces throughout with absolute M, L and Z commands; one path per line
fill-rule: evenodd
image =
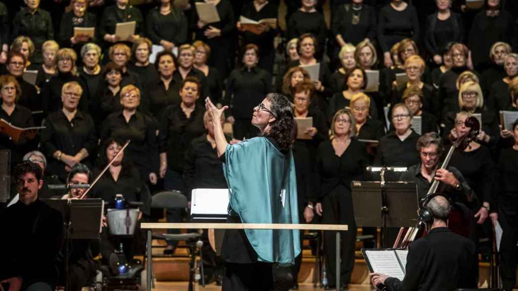
M 91 181 L 92 173 L 84 164 L 76 164 L 68 173 L 68 184 L 90 184 Z M 70 189 L 66 198 L 71 197 L 71 199 L 81 199 L 86 191 L 87 189 L 85 188 Z M 67 286 L 65 257 L 67 251 L 65 243 L 61 248 L 57 266 L 60 271 L 60 284 Z M 95 263 L 90 249 L 90 243 L 91 241 L 87 239 L 74 239 L 68 241 L 68 286 L 70 291 L 80 291 L 84 285 L 91 282 L 95 277 Z

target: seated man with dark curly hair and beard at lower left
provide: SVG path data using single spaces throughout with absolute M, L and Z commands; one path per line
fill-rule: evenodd
M 63 242 L 61 213 L 38 199 L 41 168 L 24 161 L 15 167 L 20 199 L 0 210 L 0 281 L 9 290 L 54 290 L 54 260 Z M 7 290 L 7 288 L 6 288 Z

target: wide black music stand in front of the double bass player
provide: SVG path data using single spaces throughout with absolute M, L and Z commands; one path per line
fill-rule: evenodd
M 387 246 L 387 227 L 414 227 L 419 198 L 414 182 L 352 181 L 356 226 L 381 227 Z

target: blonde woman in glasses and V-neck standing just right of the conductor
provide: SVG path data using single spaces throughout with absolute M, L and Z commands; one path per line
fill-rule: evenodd
M 331 122 L 332 137 L 318 148 L 316 161 L 317 195 L 315 212 L 325 224 L 347 224 L 340 246 L 340 289 L 347 289 L 354 267 L 356 224 L 354 221 L 351 181 L 363 180 L 368 165 L 367 149 L 356 137 L 356 124 L 348 109 L 340 109 Z M 327 288 L 335 288 L 335 234 L 324 232 Z

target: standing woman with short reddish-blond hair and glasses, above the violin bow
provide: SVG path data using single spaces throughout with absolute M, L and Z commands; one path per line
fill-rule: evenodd
M 126 85 L 120 91 L 122 110 L 111 113 L 100 129 L 100 142 L 109 138 L 121 141 L 131 140 L 124 154 L 137 166 L 142 182 L 156 184 L 157 178 L 163 178 L 167 168 L 165 153 L 160 154 L 156 131 L 156 122 L 137 108 L 140 105 L 140 90 L 134 85 Z M 160 168 L 159 168 L 160 166 Z M 158 174 L 157 174 L 158 173 Z

